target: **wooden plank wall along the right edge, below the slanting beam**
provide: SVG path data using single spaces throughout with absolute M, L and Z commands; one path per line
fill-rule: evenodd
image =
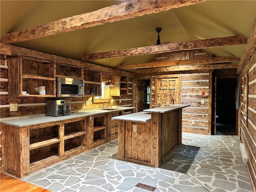
M 248 156 L 247 168 L 256 191 L 256 51 L 242 72 L 241 142 Z

